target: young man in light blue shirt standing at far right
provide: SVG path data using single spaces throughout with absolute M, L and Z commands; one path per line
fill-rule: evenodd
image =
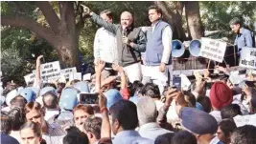
M 238 51 L 241 51 L 243 47 L 255 47 L 255 39 L 253 31 L 249 31 L 243 27 L 243 22 L 240 18 L 235 17 L 229 22 L 232 31 L 237 33 L 235 39 L 235 45 L 238 46 Z

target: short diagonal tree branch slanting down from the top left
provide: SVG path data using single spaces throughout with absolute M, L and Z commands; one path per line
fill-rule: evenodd
M 37 1 L 36 5 L 42 11 L 45 19 L 47 20 L 48 24 L 50 25 L 51 29 L 58 33 L 58 23 L 59 18 L 56 11 L 47 1 Z

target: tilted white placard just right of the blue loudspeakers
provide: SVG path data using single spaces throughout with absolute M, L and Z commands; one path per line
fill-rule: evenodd
M 226 43 L 211 38 L 201 38 L 199 55 L 217 62 L 222 62 L 226 50 Z

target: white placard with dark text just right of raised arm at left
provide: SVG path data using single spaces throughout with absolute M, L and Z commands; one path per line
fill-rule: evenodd
M 60 77 L 59 62 L 51 62 L 41 65 L 41 78 L 44 82 L 49 82 Z

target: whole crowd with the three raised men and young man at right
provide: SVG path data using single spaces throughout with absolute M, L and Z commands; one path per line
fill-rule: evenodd
M 219 66 L 217 79 L 205 70 L 188 90 L 172 87 L 173 31 L 162 10 L 149 8 L 147 30 L 135 28 L 128 11 L 113 24 L 110 10 L 83 10 L 102 26 L 94 41 L 96 73 L 86 81 L 45 83 L 38 56 L 34 83 L 9 82 L 2 91 L 2 144 L 256 144 L 255 74 L 244 73 L 251 85 L 241 86 L 230 80 L 230 68 Z M 230 26 L 240 33 L 239 48 L 255 47 L 242 23 Z

